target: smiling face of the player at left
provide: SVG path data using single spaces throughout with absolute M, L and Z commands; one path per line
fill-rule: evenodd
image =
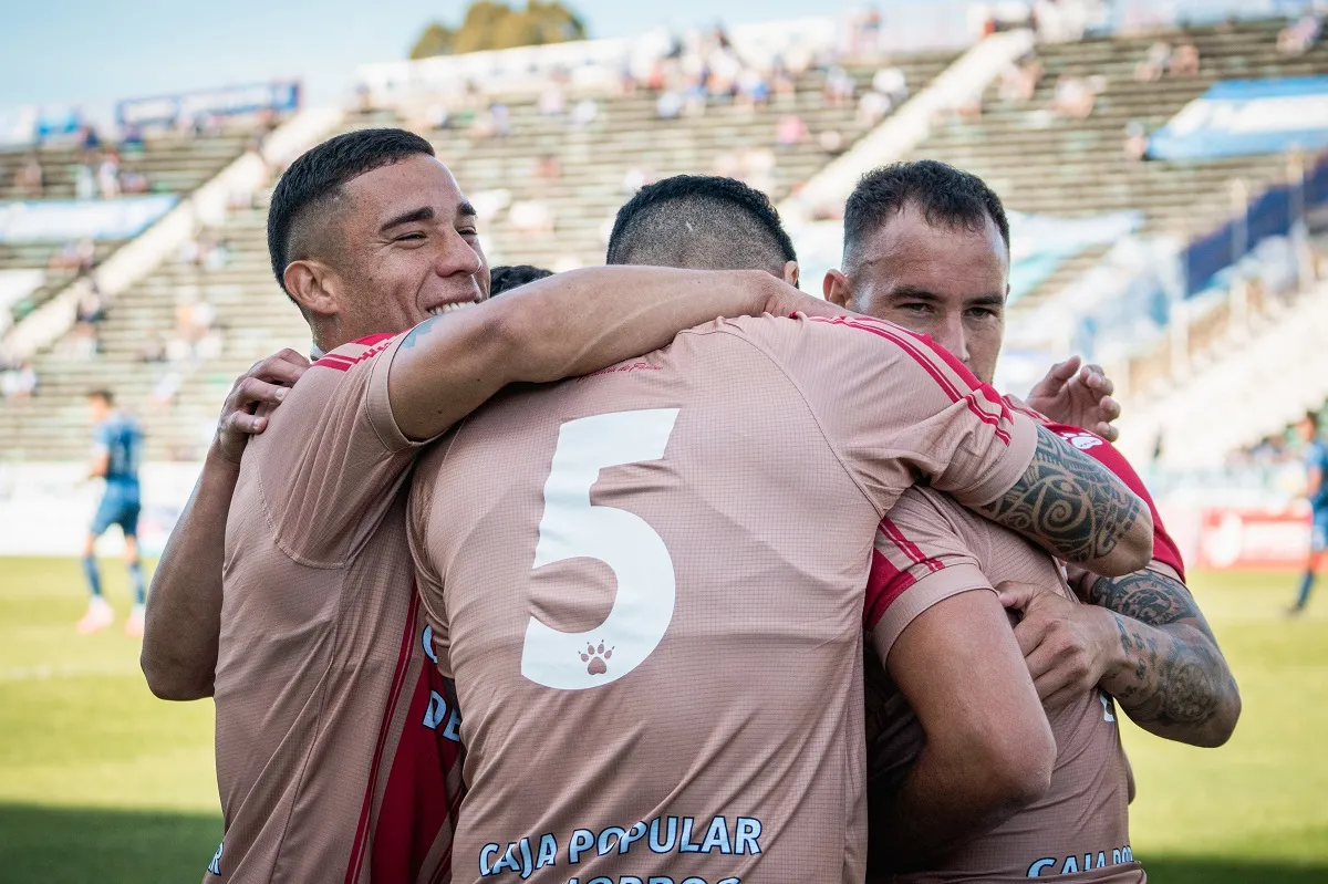
M 416 154 L 347 182 L 327 210 L 317 258 L 286 281 L 324 350 L 394 334 L 489 297 L 475 210 L 448 167 Z

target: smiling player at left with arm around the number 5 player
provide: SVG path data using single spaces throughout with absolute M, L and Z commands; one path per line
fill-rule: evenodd
M 507 382 L 591 372 L 717 315 L 837 311 L 760 273 L 633 268 L 481 303 L 474 210 L 401 130 L 297 159 L 274 192 L 268 244 L 324 356 L 274 390 L 279 410 L 250 415 L 268 425 L 238 469 L 210 453 L 163 559 L 169 604 L 149 617 L 145 672 L 154 689 L 216 703 L 226 827 L 206 880 L 441 880 L 458 717 L 426 665 L 410 581 L 416 453 Z M 272 377 L 295 372 L 276 362 Z

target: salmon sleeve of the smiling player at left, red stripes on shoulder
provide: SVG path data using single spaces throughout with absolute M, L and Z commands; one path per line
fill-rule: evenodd
M 348 561 L 377 528 L 417 443 L 397 427 L 388 370 L 404 336 L 365 338 L 315 362 L 250 445 L 278 546 L 311 567 Z

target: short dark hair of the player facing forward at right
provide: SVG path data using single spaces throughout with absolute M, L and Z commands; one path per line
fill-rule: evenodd
M 980 231 L 991 218 L 1009 251 L 1009 219 L 1000 196 L 977 175 L 935 159 L 890 163 L 861 179 L 843 207 L 843 269 L 859 259 L 863 242 L 912 203 L 931 226 Z

